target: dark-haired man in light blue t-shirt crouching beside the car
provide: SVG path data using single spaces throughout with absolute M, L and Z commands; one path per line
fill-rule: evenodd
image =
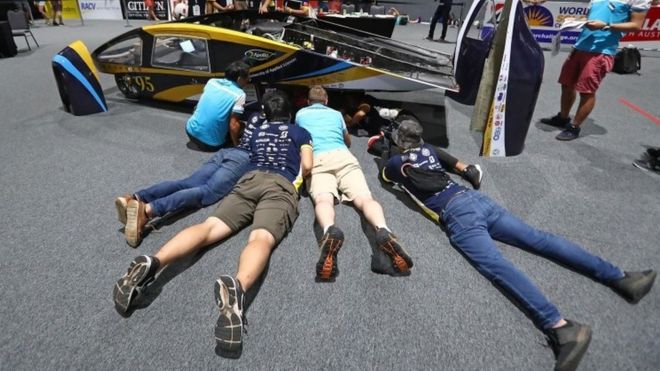
M 250 82 L 250 67 L 242 62 L 231 63 L 224 79 L 210 79 L 204 87 L 195 112 L 186 124 L 188 138 L 199 149 L 219 150 L 226 141 L 227 132 L 232 145 L 237 145 L 241 134 L 239 116 L 243 114 L 245 92 Z

